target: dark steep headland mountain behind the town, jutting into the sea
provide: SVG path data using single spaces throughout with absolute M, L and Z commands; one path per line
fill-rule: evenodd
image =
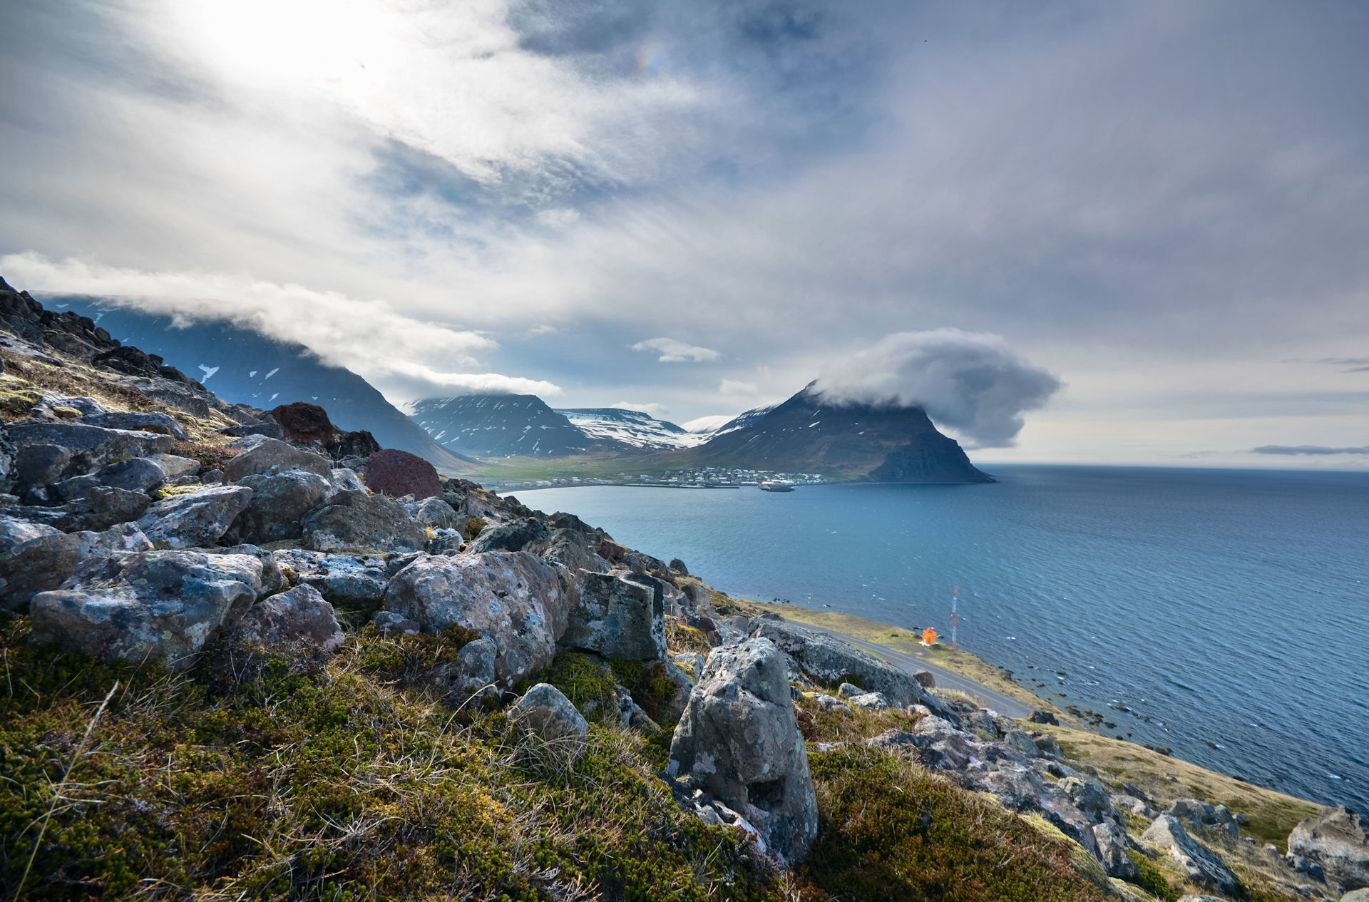
M 809 383 L 768 411 L 749 411 L 694 449 L 695 465 L 819 472 L 865 482 L 993 482 L 917 407 L 832 405 Z

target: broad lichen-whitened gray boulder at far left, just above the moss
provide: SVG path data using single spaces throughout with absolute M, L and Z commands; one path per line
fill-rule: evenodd
M 248 554 L 115 554 L 84 565 L 66 589 L 34 595 L 33 641 L 183 669 L 260 591 L 261 561 Z

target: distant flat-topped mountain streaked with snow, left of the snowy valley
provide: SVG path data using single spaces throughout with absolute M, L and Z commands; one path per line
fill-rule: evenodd
M 535 394 L 415 401 L 409 417 L 442 448 L 474 457 L 565 457 L 611 450 Z

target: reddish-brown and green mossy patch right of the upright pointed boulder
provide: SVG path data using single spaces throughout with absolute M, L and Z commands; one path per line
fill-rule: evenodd
M 847 746 L 809 753 L 821 812 L 801 871 L 809 891 L 843 899 L 964 902 L 1103 899 L 1068 843 L 916 764 Z

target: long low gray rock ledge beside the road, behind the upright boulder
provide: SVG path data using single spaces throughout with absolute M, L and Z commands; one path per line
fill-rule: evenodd
M 798 669 L 819 683 L 831 684 L 850 673 L 861 678 L 865 691 L 883 693 L 897 708 L 927 705 L 939 717 L 960 724 L 960 717 L 909 673 L 846 642 L 780 620 L 757 619 L 752 632 L 775 642 Z

